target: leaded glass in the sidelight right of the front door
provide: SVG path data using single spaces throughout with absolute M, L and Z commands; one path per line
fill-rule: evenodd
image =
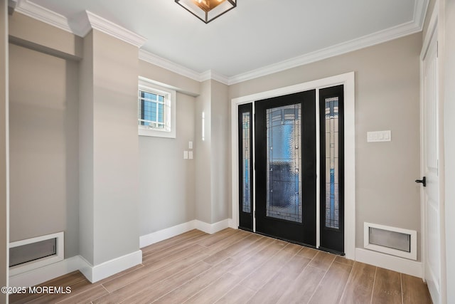
M 326 227 L 340 228 L 338 97 L 326 98 Z

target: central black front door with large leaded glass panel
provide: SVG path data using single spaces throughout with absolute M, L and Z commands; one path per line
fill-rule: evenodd
M 316 246 L 316 90 L 255 102 L 256 231 Z

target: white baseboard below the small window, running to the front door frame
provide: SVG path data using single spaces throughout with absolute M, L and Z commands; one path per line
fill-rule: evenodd
M 152 232 L 151 234 L 146 234 L 145 236 L 140 236 L 139 247 L 144 248 L 153 243 L 158 243 L 159 241 L 169 239 L 173 236 L 178 236 L 178 234 L 184 234 L 185 232 L 188 232 L 193 229 L 198 229 L 200 231 L 205 232 L 206 234 L 215 234 L 216 232 L 226 229 L 228 227 L 237 229 L 237 227 L 231 226 L 230 221 L 232 220 L 225 219 L 223 221 L 218 221 L 218 223 L 215 224 L 207 224 L 204 221 L 199 221 L 197 219 L 193 221 L 187 221 L 186 223 L 183 224 L 155 231 Z

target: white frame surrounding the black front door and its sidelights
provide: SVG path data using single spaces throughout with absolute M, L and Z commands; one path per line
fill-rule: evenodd
M 261 93 L 246 95 L 231 100 L 231 168 L 232 168 L 232 219 L 230 226 L 237 228 L 239 224 L 239 159 L 238 159 L 238 106 L 245 103 L 253 103 L 255 100 L 263 100 L 292 93 L 316 89 L 316 109 L 319 109 L 319 89 L 335 85 L 344 85 L 344 247 L 346 258 L 355 260 L 355 73 L 345 73 L 333 77 L 323 78 L 291 85 L 285 88 L 268 90 Z M 316 113 L 317 114 L 317 113 Z M 252 124 L 254 125 L 254 124 Z M 316 120 L 316 140 L 319 142 L 319 116 Z M 254 135 L 254 130 L 253 130 Z M 254 140 L 254 137 L 253 137 Z M 319 247 L 319 145 L 316 143 L 317 178 L 316 178 L 316 247 Z M 253 155 L 254 164 L 254 155 Z M 253 187 L 255 186 L 255 170 L 252 172 Z M 253 196 L 255 199 L 255 196 Z M 253 199 L 253 211 L 255 201 Z M 253 230 L 255 230 L 255 219 L 253 217 Z

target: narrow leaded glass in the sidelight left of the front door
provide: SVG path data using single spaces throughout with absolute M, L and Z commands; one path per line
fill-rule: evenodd
M 242 113 L 242 171 L 243 195 L 242 211 L 251 212 L 251 172 L 250 172 L 250 112 Z

